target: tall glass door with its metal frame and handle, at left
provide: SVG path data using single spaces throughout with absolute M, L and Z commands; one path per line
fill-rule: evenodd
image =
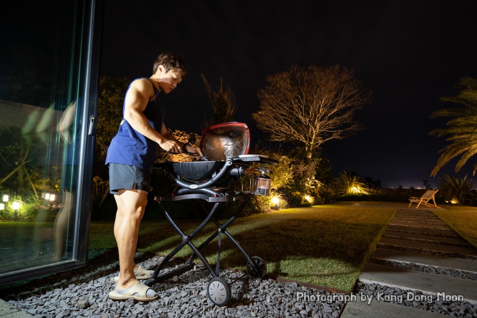
M 87 259 L 98 1 L 9 2 L 0 50 L 0 284 Z

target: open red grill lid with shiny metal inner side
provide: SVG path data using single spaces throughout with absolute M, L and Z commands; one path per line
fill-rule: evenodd
M 248 154 L 250 131 L 241 122 L 219 123 L 202 130 L 200 150 L 207 160 L 226 160 Z

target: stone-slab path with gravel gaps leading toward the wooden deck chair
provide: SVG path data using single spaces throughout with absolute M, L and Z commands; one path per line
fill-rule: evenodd
M 398 209 L 341 318 L 477 317 L 476 277 L 476 248 L 431 211 Z

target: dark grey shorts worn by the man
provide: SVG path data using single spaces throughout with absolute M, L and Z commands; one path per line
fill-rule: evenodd
M 121 189 L 149 191 L 150 184 L 151 173 L 146 169 L 128 164 L 109 164 L 109 193 L 117 195 Z

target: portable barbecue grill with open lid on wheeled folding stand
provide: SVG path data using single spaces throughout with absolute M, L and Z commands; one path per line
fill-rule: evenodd
M 155 200 L 159 203 L 165 218 L 169 221 L 182 241 L 159 263 L 151 278 L 145 284 L 152 286 L 160 280 L 172 278 L 194 268 L 194 261 L 199 258 L 208 270 L 212 279 L 207 286 L 210 300 L 223 306 L 231 297 L 230 283 L 226 278 L 220 277 L 220 252 L 221 240 L 225 235 L 243 254 L 246 260 L 247 274 L 253 278 L 262 278 L 267 272 L 265 261 L 259 256 L 250 257 L 238 241 L 227 231 L 227 227 L 241 214 L 247 203 L 256 195 L 270 194 L 270 178 L 265 174 L 269 164 L 277 164 L 278 161 L 263 155 L 249 155 L 250 133 L 244 123 L 226 122 L 203 129 L 200 149 L 203 159 L 191 162 L 166 162 L 160 165 L 170 180 L 174 190 L 166 195 L 158 195 Z M 240 176 L 247 175 L 254 163 L 262 167 L 261 175 L 251 178 L 249 189 L 236 191 L 230 188 L 231 184 Z M 243 187 L 242 187 L 243 188 Z M 174 222 L 165 208 L 164 201 L 179 201 L 196 199 L 205 212 L 205 217 L 200 225 L 190 234 L 184 233 Z M 221 204 L 227 201 L 240 201 L 237 212 L 225 223 L 216 219 L 216 213 Z M 205 202 L 212 202 L 211 208 L 207 208 Z M 209 236 L 202 244 L 196 246 L 192 239 L 210 222 L 217 226 L 217 231 Z M 215 269 L 201 253 L 201 250 L 212 240 L 217 238 L 217 260 Z M 166 263 L 176 255 L 184 246 L 188 245 L 193 254 L 184 264 L 177 268 L 164 272 L 162 269 Z M 247 275 L 245 274 L 245 275 Z

